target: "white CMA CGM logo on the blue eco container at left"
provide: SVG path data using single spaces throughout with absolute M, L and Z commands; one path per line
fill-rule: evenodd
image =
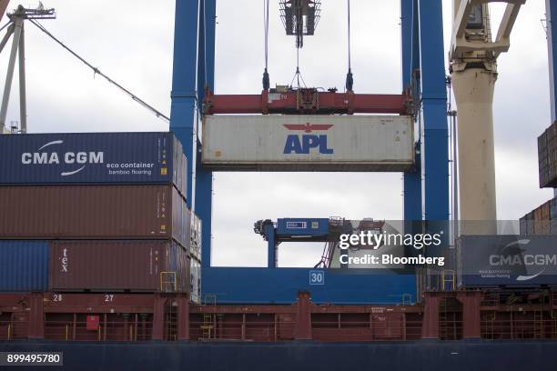
M 72 171 L 62 172 L 60 175 L 68 176 L 79 173 L 85 169 L 87 164 L 103 164 L 105 162 L 104 152 L 66 152 L 58 153 L 53 150 L 53 145 L 63 145 L 63 140 L 55 140 L 46 143 L 36 152 L 25 152 L 21 155 L 23 165 L 75 165 Z

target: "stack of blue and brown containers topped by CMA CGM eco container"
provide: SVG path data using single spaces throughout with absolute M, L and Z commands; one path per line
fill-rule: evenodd
M 0 291 L 198 299 L 197 218 L 174 135 L 0 135 L 0 158 Z

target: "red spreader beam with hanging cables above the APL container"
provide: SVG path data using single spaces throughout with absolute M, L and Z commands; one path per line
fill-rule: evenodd
M 260 95 L 215 95 L 206 87 L 205 99 L 203 101 L 204 115 L 414 114 L 410 89 L 400 95 L 354 93 L 352 90 L 353 76 L 351 74 L 350 62 L 346 91 L 343 93 L 339 93 L 336 88 L 321 91 L 315 87 L 302 87 L 299 81 L 296 87 L 277 85 L 275 88 L 270 88 L 268 82 L 268 0 L 264 2 L 264 5 L 266 5 L 264 9 L 266 32 L 263 91 Z M 320 0 L 280 0 L 279 8 L 280 19 L 285 27 L 286 35 L 296 36 L 296 49 L 299 54 L 299 49 L 303 47 L 304 36 L 315 34 L 321 12 L 321 2 Z M 348 13 L 348 17 L 349 15 Z M 299 58 L 297 59 L 294 78 L 296 79 L 297 77 L 298 79 L 301 77 Z

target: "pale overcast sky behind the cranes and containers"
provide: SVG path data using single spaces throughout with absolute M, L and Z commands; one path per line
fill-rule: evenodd
M 271 85 L 289 84 L 296 69 L 294 39 L 284 35 L 278 0 L 271 1 Z M 342 89 L 347 71 L 345 0 L 323 0 L 315 36 L 305 40 L 300 70 L 310 86 Z M 443 0 L 445 44 L 451 0 Z M 544 2 L 522 7 L 511 51 L 499 59 L 494 121 L 500 219 L 517 219 L 552 197 L 538 185 L 536 138 L 550 125 Z M 35 5 L 25 2 L 25 5 Z M 54 35 L 93 65 L 169 114 L 174 5 L 171 0 L 45 0 Z M 219 0 L 216 87 L 222 94 L 258 94 L 263 70 L 261 0 Z M 17 5 L 12 2 L 10 7 Z M 495 22 L 502 5 L 492 5 Z M 3 23 L 4 24 L 4 23 Z M 494 25 L 495 26 L 495 25 Z M 167 123 L 68 55 L 34 25 L 26 25 L 28 131 L 165 131 Z M 7 65 L 6 47 L 0 71 Z M 400 5 L 352 0 L 352 69 L 358 93 L 400 93 Z M 0 77 L 3 81 L 4 76 Z M 19 120 L 17 77 L 7 121 Z M 263 266 L 258 219 L 286 216 L 400 219 L 401 174 L 217 173 L 213 264 Z M 312 266 L 322 246 L 281 246 L 280 266 Z

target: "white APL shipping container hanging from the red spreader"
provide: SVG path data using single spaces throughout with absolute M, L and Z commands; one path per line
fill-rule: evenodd
M 206 115 L 203 165 L 215 170 L 402 172 L 414 128 L 399 115 Z

